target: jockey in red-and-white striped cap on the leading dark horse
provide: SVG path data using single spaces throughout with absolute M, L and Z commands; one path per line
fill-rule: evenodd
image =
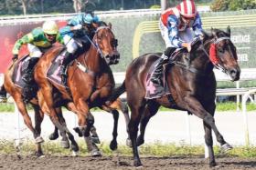
M 183 0 L 176 7 L 166 9 L 160 17 L 159 27 L 165 40 L 166 49 L 155 65 L 151 81 L 161 85 L 160 78 L 163 72 L 163 65 L 176 48 L 185 47 L 190 52 L 190 43 L 194 38 L 191 28 L 195 36 L 203 35 L 202 22 L 197 13 L 194 0 Z

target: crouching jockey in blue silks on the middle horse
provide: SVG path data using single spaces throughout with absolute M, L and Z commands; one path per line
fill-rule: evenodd
M 67 26 L 60 28 L 59 33 L 63 36 L 64 45 L 67 47 L 67 52 L 64 55 L 62 65 L 60 66 L 60 75 L 66 75 L 66 68 L 69 63 L 75 59 L 75 53 L 79 49 L 79 44 L 75 38 L 80 38 L 83 41 L 83 49 L 88 50 L 91 45 L 91 40 L 95 29 L 94 25 L 100 24 L 100 18 L 92 13 L 84 13 L 74 16 L 70 19 Z

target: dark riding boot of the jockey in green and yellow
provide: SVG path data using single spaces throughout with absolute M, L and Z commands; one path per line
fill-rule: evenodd
M 28 85 L 32 82 L 33 78 L 33 68 L 37 64 L 37 61 L 39 60 L 38 57 L 31 57 L 28 60 L 27 69 L 25 71 L 25 74 L 22 77 L 22 80 Z

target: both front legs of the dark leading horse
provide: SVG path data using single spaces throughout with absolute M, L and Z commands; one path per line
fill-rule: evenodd
M 183 98 L 184 101 L 187 103 L 187 110 L 194 114 L 197 115 L 197 117 L 203 119 L 204 124 L 208 125 L 205 126 L 206 129 L 206 144 L 208 145 L 208 151 L 209 151 L 209 158 L 210 158 L 210 162 L 209 165 L 210 166 L 215 166 L 216 162 L 215 162 L 215 157 L 214 157 L 214 153 L 213 153 L 213 148 L 212 148 L 212 139 L 211 139 L 211 133 L 210 133 L 210 129 L 213 130 L 213 132 L 216 135 L 216 138 L 219 142 L 221 142 L 221 145 L 226 144 L 226 142 L 223 139 L 223 136 L 220 135 L 219 130 L 217 129 L 217 126 L 215 125 L 215 121 L 214 121 L 214 117 L 213 115 L 211 115 L 198 101 L 196 98 L 189 96 L 189 97 L 184 97 Z M 213 113 L 212 113 L 213 114 Z

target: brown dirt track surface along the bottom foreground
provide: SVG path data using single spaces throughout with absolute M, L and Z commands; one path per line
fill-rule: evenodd
M 202 157 L 142 157 L 143 168 L 148 170 L 163 169 L 256 169 L 256 158 L 217 158 L 218 165 L 214 168 L 208 167 L 208 160 Z M 22 156 L 18 159 L 16 155 L 0 155 L 0 169 L 135 169 L 133 158 L 127 156 L 102 156 L 102 157 L 70 157 L 70 156 L 51 156 L 43 158 L 34 156 Z

